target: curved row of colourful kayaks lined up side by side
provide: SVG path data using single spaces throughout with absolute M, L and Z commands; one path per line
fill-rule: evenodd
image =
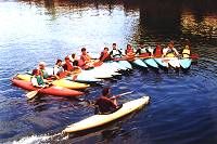
M 133 61 L 110 61 L 103 63 L 101 66 L 94 67 L 89 70 L 82 70 L 76 76 L 65 77 L 64 79 L 54 80 L 52 87 L 49 89 L 40 90 L 40 93 L 50 94 L 50 95 L 62 95 L 65 96 L 78 96 L 82 95 L 82 92 L 79 92 L 79 89 L 86 89 L 90 87 L 91 82 L 101 82 L 103 79 L 112 78 L 115 76 L 120 76 L 122 71 L 132 69 L 133 65 L 141 68 L 152 67 L 155 69 L 162 68 L 184 68 L 188 69 L 191 66 L 191 58 L 178 58 L 178 57 L 157 57 L 157 58 L 136 58 Z M 49 75 L 53 74 L 52 67 L 47 67 L 46 70 Z M 26 89 L 28 91 L 37 90 L 30 83 L 31 75 L 18 74 L 15 78 L 12 79 L 12 82 L 20 88 Z M 52 90 L 53 89 L 53 90 Z M 65 91 L 71 91 L 71 93 L 65 93 Z

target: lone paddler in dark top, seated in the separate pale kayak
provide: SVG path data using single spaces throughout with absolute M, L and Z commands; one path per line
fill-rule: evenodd
M 110 97 L 111 88 L 104 88 L 102 90 L 102 95 L 97 99 L 94 105 L 95 107 L 95 114 L 111 114 L 118 109 L 117 101 L 115 97 Z

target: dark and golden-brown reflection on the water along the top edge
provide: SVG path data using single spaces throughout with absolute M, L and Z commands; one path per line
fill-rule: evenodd
M 126 15 L 139 16 L 131 25 L 133 39 L 128 41 L 167 42 L 182 35 L 208 38 L 217 37 L 217 2 L 214 0 L 20 0 L 28 4 L 44 6 L 52 19 L 59 14 L 77 13 L 84 16 L 84 10 L 105 10 L 113 14 L 114 8 L 124 10 Z M 97 12 L 95 14 L 99 13 Z M 97 16 L 97 15 L 95 15 Z M 176 31 L 176 32 L 175 32 Z M 148 37 L 149 36 L 149 37 Z

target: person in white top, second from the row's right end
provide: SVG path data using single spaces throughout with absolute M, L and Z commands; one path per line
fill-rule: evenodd
M 163 49 L 163 57 L 178 56 L 179 53 L 174 47 L 174 41 L 170 41 L 167 48 Z

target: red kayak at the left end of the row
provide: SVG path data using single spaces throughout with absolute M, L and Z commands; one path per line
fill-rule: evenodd
M 20 88 L 26 89 L 28 91 L 35 91 L 38 90 L 39 88 L 33 87 L 30 81 L 24 81 L 24 80 L 18 80 L 18 79 L 11 79 L 11 81 L 16 84 Z M 44 88 L 39 90 L 39 93 L 44 93 L 44 94 L 50 94 L 50 95 L 59 95 L 59 96 L 79 96 L 82 95 L 82 92 L 62 88 L 62 87 L 56 87 L 56 86 L 51 86 L 49 88 Z

